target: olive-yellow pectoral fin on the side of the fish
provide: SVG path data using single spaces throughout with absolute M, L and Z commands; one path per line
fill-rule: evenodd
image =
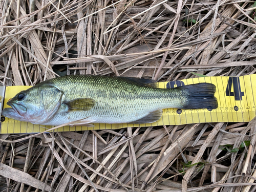
M 91 98 L 79 98 L 71 101 L 63 102 L 70 111 L 89 111 L 95 105 L 95 100 Z

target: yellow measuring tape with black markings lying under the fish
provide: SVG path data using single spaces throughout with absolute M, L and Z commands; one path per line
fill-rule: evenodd
M 84 131 L 84 130 L 104 130 L 120 129 L 128 126 L 158 126 L 158 125 L 181 125 L 190 123 L 205 122 L 248 122 L 256 115 L 256 74 L 241 77 L 199 77 L 184 79 L 172 82 L 159 82 L 158 88 L 170 89 L 187 84 L 209 82 L 215 84 L 218 99 L 218 108 L 212 109 L 164 109 L 162 117 L 154 123 L 145 124 L 99 124 L 94 127 L 86 126 L 64 126 L 56 131 Z M 4 108 L 9 107 L 6 103 L 22 90 L 29 86 L 0 87 L 1 104 Z M 2 97 L 1 97 L 2 96 Z M 4 98 L 4 99 L 3 99 Z M 4 102 L 3 102 L 4 101 Z M 14 119 L 1 117 L 2 134 L 11 133 L 38 133 L 46 131 L 53 126 L 35 125 L 28 122 L 20 122 Z

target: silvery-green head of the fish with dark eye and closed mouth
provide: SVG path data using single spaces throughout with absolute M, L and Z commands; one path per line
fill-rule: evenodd
M 7 104 L 3 115 L 19 121 L 43 124 L 49 121 L 61 105 L 63 92 L 51 85 L 34 86 L 19 92 Z

